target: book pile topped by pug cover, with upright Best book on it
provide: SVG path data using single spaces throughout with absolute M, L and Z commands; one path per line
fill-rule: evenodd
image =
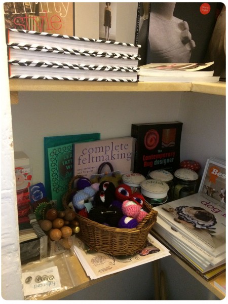
M 225 162 L 210 158 L 198 193 L 154 208 L 152 234 L 206 280 L 225 271 L 225 179 Z

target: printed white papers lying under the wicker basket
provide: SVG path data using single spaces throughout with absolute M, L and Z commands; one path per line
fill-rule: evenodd
M 127 256 L 113 256 L 91 250 L 88 245 L 75 237 L 74 254 L 91 279 L 111 275 L 170 255 L 169 250 L 150 234 L 144 249 Z

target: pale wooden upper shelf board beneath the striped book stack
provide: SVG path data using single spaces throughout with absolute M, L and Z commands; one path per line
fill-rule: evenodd
M 18 92 L 198 92 L 225 96 L 225 82 L 218 83 L 113 83 L 89 81 L 10 79 L 11 103 Z

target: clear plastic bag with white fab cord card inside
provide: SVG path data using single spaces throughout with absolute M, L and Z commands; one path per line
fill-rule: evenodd
M 75 268 L 75 259 L 75 255 L 66 251 L 23 265 L 25 300 L 43 300 L 53 295 L 58 299 L 62 291 L 78 286 L 80 276 Z

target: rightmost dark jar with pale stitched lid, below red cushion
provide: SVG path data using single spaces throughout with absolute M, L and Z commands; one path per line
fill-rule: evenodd
M 173 200 L 196 193 L 198 178 L 198 174 L 191 169 L 177 169 L 174 172 Z

